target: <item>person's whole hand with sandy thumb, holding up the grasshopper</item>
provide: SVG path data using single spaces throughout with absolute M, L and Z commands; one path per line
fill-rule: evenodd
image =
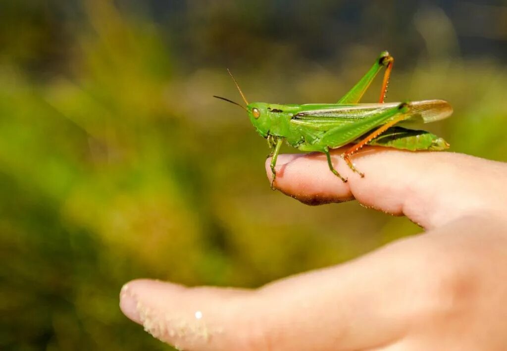
M 355 198 L 425 232 L 256 290 L 134 280 L 122 311 L 189 350 L 505 349 L 507 165 L 366 147 L 354 157 L 361 179 L 341 153 L 333 162 L 348 183 L 314 153 L 280 155 L 274 186 L 310 204 Z

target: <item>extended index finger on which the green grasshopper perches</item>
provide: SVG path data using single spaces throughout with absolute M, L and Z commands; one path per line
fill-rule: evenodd
M 409 152 L 366 147 L 354 158 L 365 173 L 353 173 L 332 151 L 334 175 L 325 155 L 285 154 L 277 160 L 275 188 L 307 204 L 356 199 L 393 215 L 405 215 L 424 228 L 449 223 L 463 215 L 495 212 L 505 215 L 507 175 L 504 163 L 449 152 Z M 270 158 L 266 171 L 271 180 Z

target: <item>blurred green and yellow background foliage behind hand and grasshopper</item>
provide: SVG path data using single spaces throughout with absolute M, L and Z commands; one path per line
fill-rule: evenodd
M 258 287 L 419 232 L 271 191 L 265 140 L 211 95 L 239 100 L 229 67 L 249 100 L 334 102 L 388 49 L 388 100 L 449 100 L 425 127 L 507 161 L 506 23 L 504 1 L 2 0 L 0 349 L 170 349 L 121 314 L 129 279 Z

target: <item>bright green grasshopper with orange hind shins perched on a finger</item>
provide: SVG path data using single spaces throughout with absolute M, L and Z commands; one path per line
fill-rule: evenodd
M 359 172 L 350 157 L 365 145 L 391 147 L 401 150 L 440 151 L 449 148 L 443 138 L 424 130 L 406 129 L 403 122 L 433 122 L 449 117 L 452 107 L 444 100 L 424 100 L 384 103 L 394 59 L 387 51 L 380 53 L 373 66 L 337 103 L 275 104 L 248 103 L 238 83 L 229 71 L 246 106 L 220 96 L 246 110 L 251 123 L 265 137 L 271 148 L 271 171 L 276 178 L 276 158 L 283 141 L 301 151 L 325 154 L 329 169 L 343 182 L 334 168 L 330 150 L 353 144 L 341 156 L 350 169 Z M 359 103 L 361 97 L 380 70 L 386 67 L 379 103 Z

